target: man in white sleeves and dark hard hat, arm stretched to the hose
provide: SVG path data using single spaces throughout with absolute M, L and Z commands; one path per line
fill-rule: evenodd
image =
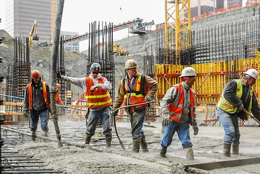
M 112 139 L 110 106 L 112 105 L 112 100 L 109 91 L 111 91 L 112 85 L 107 78 L 100 74 L 100 71 L 100 64 L 93 63 L 90 67 L 88 77 L 66 77 L 61 76 L 60 73 L 57 72 L 57 78 L 79 86 L 85 93 L 86 103 L 89 109 L 85 144 L 90 143 L 91 136 L 95 133 L 96 125 L 99 119 L 101 119 L 104 127 L 103 134 L 106 136 L 107 148 L 110 148 Z

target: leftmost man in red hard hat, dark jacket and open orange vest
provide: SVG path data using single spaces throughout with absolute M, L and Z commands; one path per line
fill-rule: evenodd
M 31 120 L 31 140 L 35 141 L 39 116 L 43 136 L 48 136 L 48 108 L 50 107 L 50 89 L 47 82 L 41 81 L 38 70 L 31 71 L 31 82 L 26 86 L 23 101 L 23 115 Z M 46 140 L 43 140 L 46 142 Z

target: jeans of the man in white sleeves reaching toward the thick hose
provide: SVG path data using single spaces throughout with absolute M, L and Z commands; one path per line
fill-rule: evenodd
M 99 119 L 101 119 L 104 128 L 103 134 L 112 135 L 110 112 L 110 106 L 104 107 L 96 111 L 90 110 L 88 115 L 88 125 L 86 134 L 88 134 L 89 136 L 93 136 L 95 134 L 96 125 L 98 125 L 98 121 Z

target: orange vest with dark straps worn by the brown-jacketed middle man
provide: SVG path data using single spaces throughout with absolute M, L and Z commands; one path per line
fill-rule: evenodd
M 124 91 L 126 92 L 126 94 L 124 95 L 124 99 L 123 99 L 123 106 L 127 106 L 127 105 L 133 105 L 133 104 L 139 104 L 139 103 L 145 103 L 145 99 L 144 99 L 144 95 L 142 94 L 141 92 L 141 75 L 138 76 L 138 78 L 136 79 L 135 81 L 135 84 L 134 84 L 134 87 L 133 87 L 133 90 L 131 91 L 134 91 L 132 93 L 128 93 L 128 91 L 125 90 L 125 86 L 123 86 L 123 80 L 120 81 L 120 85 L 122 86 L 122 88 L 124 89 Z M 125 83 L 125 84 L 128 84 Z M 139 92 L 139 93 L 135 93 L 135 92 Z M 145 91 L 144 92 L 145 94 L 148 93 L 148 91 Z M 136 108 L 142 108 L 142 107 L 146 107 L 147 104 L 142 104 L 142 105 L 138 105 L 138 106 L 135 106 L 134 109 Z

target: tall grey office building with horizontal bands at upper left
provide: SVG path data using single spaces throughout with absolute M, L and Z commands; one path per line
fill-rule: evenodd
M 6 31 L 12 36 L 28 37 L 37 21 L 39 43 L 51 38 L 50 0 L 6 0 Z

